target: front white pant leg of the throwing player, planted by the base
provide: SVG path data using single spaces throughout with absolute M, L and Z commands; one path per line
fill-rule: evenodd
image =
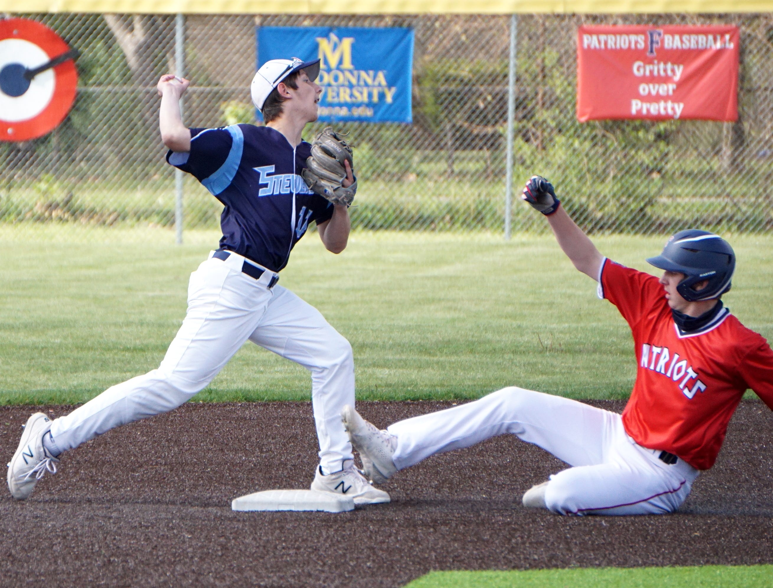
M 274 287 L 250 340 L 312 372 L 312 408 L 323 473 L 342 470 L 352 460 L 352 445 L 343 428 L 341 411 L 354 405 L 352 346 L 314 306 L 288 289 Z

